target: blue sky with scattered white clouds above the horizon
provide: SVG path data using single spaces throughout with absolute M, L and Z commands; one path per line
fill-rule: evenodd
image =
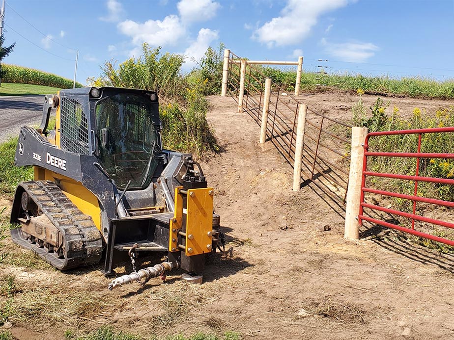
M 306 70 L 323 64 L 328 72 L 454 78 L 454 0 L 6 3 L 6 43 L 16 48 L 4 62 L 73 78 L 78 49 L 82 83 L 106 60 L 138 56 L 143 42 L 188 55 L 185 70 L 223 42 L 249 59 L 303 55 Z

